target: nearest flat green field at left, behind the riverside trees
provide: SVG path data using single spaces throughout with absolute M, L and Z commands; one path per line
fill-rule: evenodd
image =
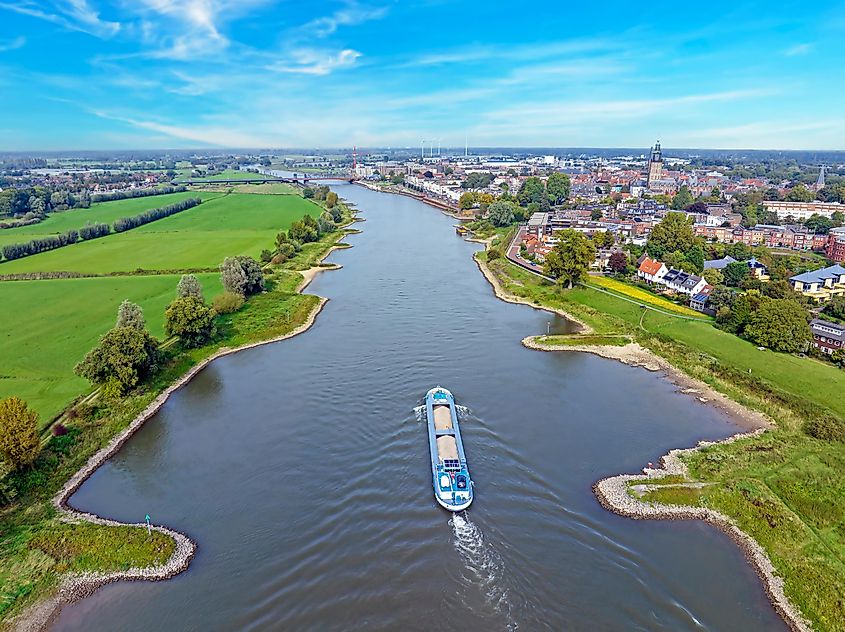
M 216 273 L 198 275 L 207 299 L 221 291 Z M 114 326 L 124 299 L 138 303 L 150 332 L 164 336 L 164 308 L 179 275 L 6 281 L 0 285 L 0 398 L 17 395 L 45 424 L 89 386 L 73 373 Z

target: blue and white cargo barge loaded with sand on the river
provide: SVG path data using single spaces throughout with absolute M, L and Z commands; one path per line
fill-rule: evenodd
M 461 511 L 472 502 L 473 482 L 461 441 L 455 398 L 445 388 L 433 388 L 426 393 L 425 412 L 434 498 L 449 511 Z

